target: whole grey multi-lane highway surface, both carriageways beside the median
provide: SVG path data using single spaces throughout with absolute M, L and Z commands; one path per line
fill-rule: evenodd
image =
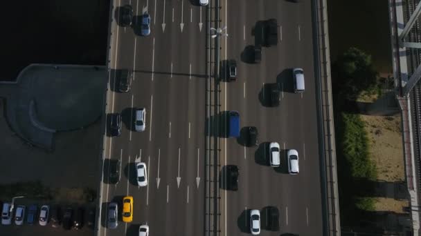
M 249 234 L 249 210 L 265 213 L 278 208 L 280 228 L 260 235 L 299 233 L 323 235 L 322 193 L 319 162 L 316 79 L 314 76 L 312 12 L 309 1 L 221 0 L 222 59 L 235 59 L 238 81 L 220 84 L 220 110 L 240 112 L 240 125 L 256 126 L 260 146 L 246 148 L 237 139 L 221 138 L 219 163 L 240 168 L 238 191 L 220 191 L 220 235 Z M 114 0 L 114 10 L 129 4 L 134 15 L 150 14 L 151 35 L 141 37 L 133 28 L 116 23 L 111 12 L 111 48 L 107 113 L 123 115 L 120 137 L 105 137 L 105 161 L 120 159 L 118 184 L 108 184 L 104 175 L 99 235 L 136 235 L 140 224 L 151 235 L 204 235 L 206 84 L 209 51 L 206 34 L 207 7 L 189 0 Z M 213 4 L 213 1 L 211 1 Z M 262 48 L 262 61 L 242 61 L 244 48 L 255 43 L 253 26 L 265 19 L 278 21 L 278 45 Z M 136 19 L 136 17 L 135 17 Z M 213 21 L 214 23 L 215 21 Z M 292 92 L 292 68 L 305 71 L 305 92 Z M 132 89 L 117 92 L 116 70 L 134 71 Z M 265 83 L 278 83 L 280 106 L 263 106 L 259 99 Z M 146 130 L 132 131 L 132 108 L 146 108 Z M 209 115 L 209 114 L 208 114 Z M 282 149 L 280 168 L 265 161 L 265 145 L 277 141 Z M 300 155 L 300 173 L 289 175 L 285 151 Z M 136 186 L 134 164 L 147 165 L 147 187 Z M 106 167 L 106 165 L 105 165 Z M 104 170 L 107 173 L 107 170 Z M 199 180 L 199 182 L 198 182 Z M 199 184 L 198 184 L 199 183 Z M 107 204 L 134 197 L 134 220 L 105 225 Z M 120 208 L 121 213 L 121 208 Z M 265 218 L 263 218 L 265 219 Z M 205 233 L 206 234 L 206 233 Z

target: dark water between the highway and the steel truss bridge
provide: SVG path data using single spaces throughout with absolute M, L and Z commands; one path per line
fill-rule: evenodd
M 330 56 L 350 47 L 372 55 L 378 72 L 392 72 L 387 0 L 328 0 Z

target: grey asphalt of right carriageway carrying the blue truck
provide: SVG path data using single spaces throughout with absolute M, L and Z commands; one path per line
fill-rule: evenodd
M 222 235 L 249 235 L 250 210 L 262 214 L 267 206 L 278 208 L 280 230 L 263 229 L 267 221 L 262 217 L 260 235 L 323 235 L 311 2 L 222 1 L 226 3 L 222 26 L 227 26 L 229 37 L 222 40 L 221 55 L 238 62 L 238 81 L 222 84 L 222 110 L 240 112 L 242 127 L 256 126 L 260 146 L 244 148 L 232 138 L 222 141 L 222 165 L 240 169 L 239 190 L 222 193 Z M 256 22 L 271 18 L 278 21 L 278 45 L 262 48 L 260 64 L 242 62 L 244 48 L 255 43 Z M 304 69 L 303 94 L 292 92 L 295 67 Z M 265 83 L 280 85 L 280 106 L 262 106 L 259 96 Z M 268 164 L 265 147 L 271 141 L 280 144 L 280 168 Z M 292 148 L 300 157 L 298 175 L 287 172 L 285 153 Z

